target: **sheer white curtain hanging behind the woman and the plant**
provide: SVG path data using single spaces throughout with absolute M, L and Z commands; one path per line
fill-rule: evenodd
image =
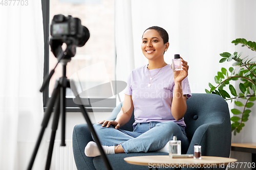
M 255 52 L 231 43 L 236 38 L 256 41 L 254 0 L 117 0 L 115 8 L 117 80 L 126 81 L 132 69 L 147 64 L 141 36 L 151 26 L 160 26 L 169 34 L 170 46 L 164 55 L 167 63 L 174 54 L 188 61 L 193 93 L 205 93 L 209 82 L 215 84 L 221 67 L 231 66 L 232 62 L 219 63 L 219 54 L 237 51 L 244 57 L 255 57 Z M 251 113 L 242 132 L 232 137 L 233 142 L 256 142 L 252 133 L 255 121 L 256 115 Z

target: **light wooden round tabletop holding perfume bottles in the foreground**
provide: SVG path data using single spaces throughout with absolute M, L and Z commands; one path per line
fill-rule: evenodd
M 231 162 L 236 162 L 237 159 L 225 158 L 225 157 L 214 157 L 214 156 L 202 156 L 202 159 L 194 158 L 170 158 L 168 155 L 157 155 L 157 156 L 134 156 L 124 158 L 127 163 L 135 165 L 148 166 L 149 169 L 159 167 L 197 167 L 197 168 L 214 168 L 224 167 Z

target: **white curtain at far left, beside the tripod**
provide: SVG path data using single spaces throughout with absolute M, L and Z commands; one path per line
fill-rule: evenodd
M 26 169 L 44 112 L 41 1 L 4 1 L 0 16 L 0 169 Z M 37 157 L 33 169 L 43 169 Z

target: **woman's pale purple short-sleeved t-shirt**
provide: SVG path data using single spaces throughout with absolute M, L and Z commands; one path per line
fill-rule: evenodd
M 144 65 L 134 69 L 127 80 L 124 93 L 132 95 L 135 118 L 133 126 L 137 123 L 173 121 L 185 127 L 184 118 L 175 120 L 171 111 L 174 91 L 173 69 L 170 64 L 160 69 L 148 70 L 147 65 Z M 154 78 L 152 81 L 150 75 Z M 190 98 L 187 77 L 182 81 L 182 91 Z

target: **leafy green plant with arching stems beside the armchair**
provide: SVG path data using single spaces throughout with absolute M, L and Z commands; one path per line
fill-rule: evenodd
M 250 50 L 256 52 L 256 43 L 252 41 L 247 41 L 244 38 L 238 38 L 233 40 L 232 43 L 235 45 L 242 44 L 242 46 L 247 46 Z M 224 52 L 220 54 L 222 59 L 220 63 L 225 61 L 230 62 L 234 61 L 232 64 L 233 67 L 221 68 L 221 71 L 218 71 L 217 76 L 215 76 L 215 83 L 217 85 L 212 85 L 209 83 L 209 90 L 205 89 L 206 93 L 213 93 L 222 96 L 226 101 L 234 101 L 234 104 L 241 109 L 233 108 L 231 112 L 234 114 L 230 118 L 232 121 L 231 129 L 234 132 L 234 135 L 239 133 L 242 128 L 245 126 L 248 117 L 251 112 L 251 107 L 254 105 L 256 100 L 256 63 L 252 62 L 252 59 L 249 57 L 242 58 L 242 53 L 234 52 L 233 54 Z M 230 81 L 238 81 L 239 83 L 239 92 Z M 223 89 L 226 87 L 227 90 Z

